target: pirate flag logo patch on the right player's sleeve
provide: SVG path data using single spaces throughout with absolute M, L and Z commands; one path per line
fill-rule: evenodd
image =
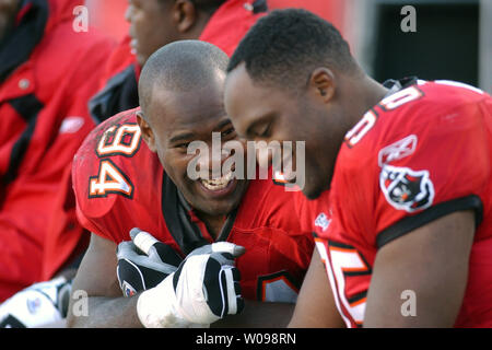
M 398 210 L 414 212 L 431 207 L 434 200 L 434 185 L 427 171 L 385 165 L 379 186 L 386 200 Z

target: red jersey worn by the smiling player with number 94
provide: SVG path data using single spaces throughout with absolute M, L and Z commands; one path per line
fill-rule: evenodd
M 213 240 L 142 141 L 136 110 L 99 125 L 77 153 L 72 176 L 78 218 L 117 244 L 140 228 L 186 255 Z M 301 229 L 291 198 L 271 179 L 250 180 L 239 207 L 226 219 L 218 241 L 246 247 L 237 259 L 246 299 L 295 301 L 314 240 L 311 230 Z

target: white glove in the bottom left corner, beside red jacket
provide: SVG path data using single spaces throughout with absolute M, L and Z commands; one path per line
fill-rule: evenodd
M 67 317 L 72 282 L 63 277 L 35 283 L 0 304 L 0 328 L 36 328 Z

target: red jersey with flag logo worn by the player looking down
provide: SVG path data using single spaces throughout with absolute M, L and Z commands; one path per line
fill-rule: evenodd
M 337 306 L 361 326 L 379 247 L 454 211 L 477 231 L 456 327 L 492 326 L 492 98 L 449 81 L 400 90 L 345 136 L 316 245 Z

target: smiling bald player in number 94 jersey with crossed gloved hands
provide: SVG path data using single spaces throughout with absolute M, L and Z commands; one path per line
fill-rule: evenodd
M 224 168 L 231 154 L 221 150 L 199 154 L 197 164 L 200 172 L 207 168 L 206 177 L 200 173 L 190 179 L 188 174 L 196 158 L 187 152 L 192 141 L 206 142 L 212 152 L 216 152 L 212 132 L 221 135 L 222 147 L 227 141 L 239 143 L 222 103 L 227 62 L 227 56 L 208 43 L 165 46 L 143 68 L 141 109 L 109 118 L 79 150 L 73 165 L 78 214 L 93 234 L 73 282 L 74 291 L 87 292 L 89 311 L 81 316 L 70 307 L 70 326 L 208 326 L 238 313 L 236 299 L 243 296 L 245 312 L 232 319 L 233 325 L 279 327 L 289 322 L 314 247 L 311 231 L 303 231 L 293 215 L 289 192 L 271 179 L 236 178 L 232 167 Z M 223 172 L 210 178 L 213 162 Z M 151 268 L 151 264 L 137 267 L 137 259 L 121 261 L 125 252 L 118 252 L 119 261 L 116 258 L 117 245 L 129 241 L 136 226 L 187 257 L 157 285 L 143 279 L 137 287 L 121 278 L 126 273 L 121 269 L 143 276 Z M 209 270 L 210 254 L 226 242 L 246 249 L 236 266 L 241 292 L 231 287 L 232 281 L 219 283 Z M 192 262 L 189 254 L 210 244 L 210 254 L 201 254 L 200 264 Z M 196 296 L 192 285 L 199 294 L 209 285 L 208 298 Z M 121 290 L 130 298 L 124 298 Z M 188 308 L 206 311 L 194 318 L 183 312 Z

